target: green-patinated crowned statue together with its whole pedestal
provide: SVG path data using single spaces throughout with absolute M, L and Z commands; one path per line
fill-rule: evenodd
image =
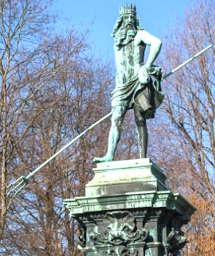
M 189 222 L 195 208 L 166 187 L 162 170 L 146 158 L 146 118 L 154 117 L 163 100 L 160 81 L 155 86 L 151 80 L 153 75 L 161 79 L 161 69 L 153 65 L 161 42 L 139 26 L 133 5 L 121 7 L 112 36 L 117 76 L 108 151 L 105 157 L 95 158 L 95 177 L 86 184 L 85 197 L 63 203 L 79 222 L 79 249 L 87 256 L 179 256 L 187 243 L 181 226 Z M 144 65 L 146 45 L 150 52 Z M 156 91 L 157 105 L 149 97 Z M 130 108 L 136 117 L 141 159 L 112 162 Z

